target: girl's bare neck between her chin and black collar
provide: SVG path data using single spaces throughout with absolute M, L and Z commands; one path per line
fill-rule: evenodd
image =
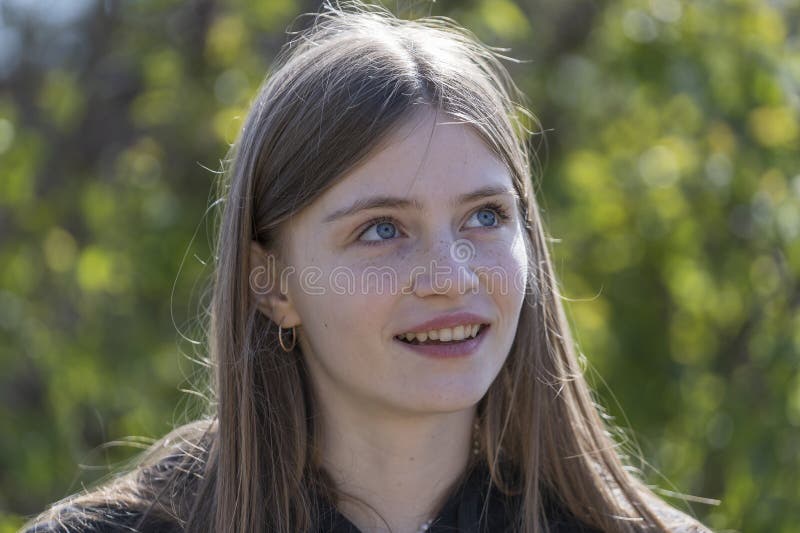
M 365 533 L 416 533 L 466 470 L 474 417 L 474 407 L 419 416 L 323 416 L 323 465 L 353 498 L 338 502 L 338 510 Z

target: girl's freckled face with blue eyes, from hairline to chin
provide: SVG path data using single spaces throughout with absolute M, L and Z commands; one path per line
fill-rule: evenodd
M 328 408 L 468 408 L 511 348 L 528 274 L 511 176 L 470 126 L 431 132 L 437 118 L 415 116 L 287 224 L 283 325 L 301 326 Z M 397 338 L 461 312 L 480 318 L 464 325 L 488 324 L 471 352 L 425 354 Z

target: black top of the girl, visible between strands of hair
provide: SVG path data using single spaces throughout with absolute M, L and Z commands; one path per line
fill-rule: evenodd
M 489 491 L 489 473 L 486 468 L 475 468 L 452 492 L 432 522 L 429 533 L 504 533 L 514 531 L 519 498 L 505 496 L 496 487 L 489 495 L 486 514 L 481 517 L 484 500 Z M 548 493 L 543 498 L 545 515 L 551 533 L 601 533 L 589 528 L 574 518 Z M 322 513 L 315 533 L 360 533 L 359 529 L 329 503 L 321 504 Z M 92 509 L 86 519 L 80 509 L 65 508 L 61 513 L 62 523 L 42 523 L 25 533 L 181 533 L 176 524 L 165 524 L 145 518 L 139 526 L 141 514 L 119 508 Z M 102 518 L 101 518 L 102 517 Z M 150 518 L 150 517 L 148 517 Z M 138 526 L 138 528 L 137 528 Z

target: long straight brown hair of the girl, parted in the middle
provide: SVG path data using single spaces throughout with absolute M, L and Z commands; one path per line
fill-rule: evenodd
M 533 275 L 506 363 L 478 405 L 481 460 L 492 486 L 519 496 L 516 529 L 546 530 L 544 491 L 603 531 L 702 528 L 624 464 L 593 401 L 534 196 L 537 165 L 529 154 L 536 121 L 502 59 L 445 18 L 401 20 L 357 2 L 326 4 L 315 14 L 275 61 L 226 159 L 209 313 L 215 374 L 208 417 L 159 441 L 135 471 L 71 499 L 51 517 L 59 509 L 62 520 L 85 516 L 105 502 L 193 532 L 313 526 L 314 495 L 335 496 L 336 487 L 319 468 L 300 348 L 284 352 L 277 324 L 256 309 L 251 241 L 280 250 L 293 214 L 419 106 L 431 106 L 475 129 L 507 165 L 521 198 Z

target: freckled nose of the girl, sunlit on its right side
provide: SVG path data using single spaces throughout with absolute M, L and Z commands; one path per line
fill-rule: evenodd
M 439 294 L 458 297 L 478 291 L 472 268 L 475 246 L 468 239 L 438 239 L 417 254 L 411 269 L 411 286 L 419 297 Z

